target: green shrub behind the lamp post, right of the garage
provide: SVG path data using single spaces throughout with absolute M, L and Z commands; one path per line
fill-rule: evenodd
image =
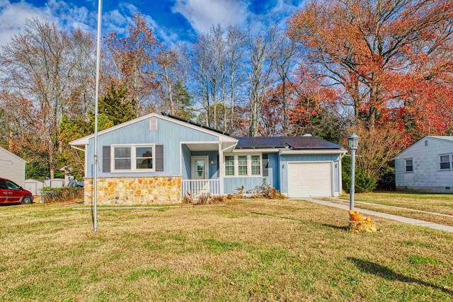
M 351 158 L 343 157 L 341 163 L 341 175 L 343 178 L 343 189 L 346 192 L 350 192 L 349 187 L 351 183 Z M 365 193 L 372 192 L 376 189 L 377 183 L 374 178 L 369 178 L 365 175 L 365 172 L 355 165 L 355 192 L 356 193 Z

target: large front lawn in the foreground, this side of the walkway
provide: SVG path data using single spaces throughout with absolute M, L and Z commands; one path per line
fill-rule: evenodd
M 74 206 L 76 207 L 76 205 Z M 453 234 L 294 200 L 0 207 L 0 301 L 451 301 Z

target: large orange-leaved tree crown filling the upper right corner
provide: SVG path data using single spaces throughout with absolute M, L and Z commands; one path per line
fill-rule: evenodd
M 287 34 L 356 121 L 423 136 L 451 131 L 452 21 L 449 0 L 312 0 Z

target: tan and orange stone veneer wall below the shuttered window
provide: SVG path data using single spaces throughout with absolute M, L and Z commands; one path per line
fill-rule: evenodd
M 93 201 L 93 178 L 85 178 L 85 204 Z M 178 204 L 181 177 L 98 178 L 100 205 Z

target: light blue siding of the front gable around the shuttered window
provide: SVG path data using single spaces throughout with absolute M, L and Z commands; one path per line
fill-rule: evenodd
M 136 177 L 136 176 L 176 176 L 181 175 L 181 158 L 185 161 L 181 151 L 180 141 L 218 141 L 218 137 L 185 127 L 174 122 L 157 119 L 157 131 L 149 130 L 149 119 L 141 120 L 125 127 L 98 136 L 98 176 L 99 177 Z M 87 146 L 88 169 L 86 177 L 93 177 L 94 139 L 89 140 Z M 164 145 L 164 171 L 154 173 L 103 173 L 102 147 L 115 144 L 159 144 Z M 187 172 L 187 171 L 186 171 Z

